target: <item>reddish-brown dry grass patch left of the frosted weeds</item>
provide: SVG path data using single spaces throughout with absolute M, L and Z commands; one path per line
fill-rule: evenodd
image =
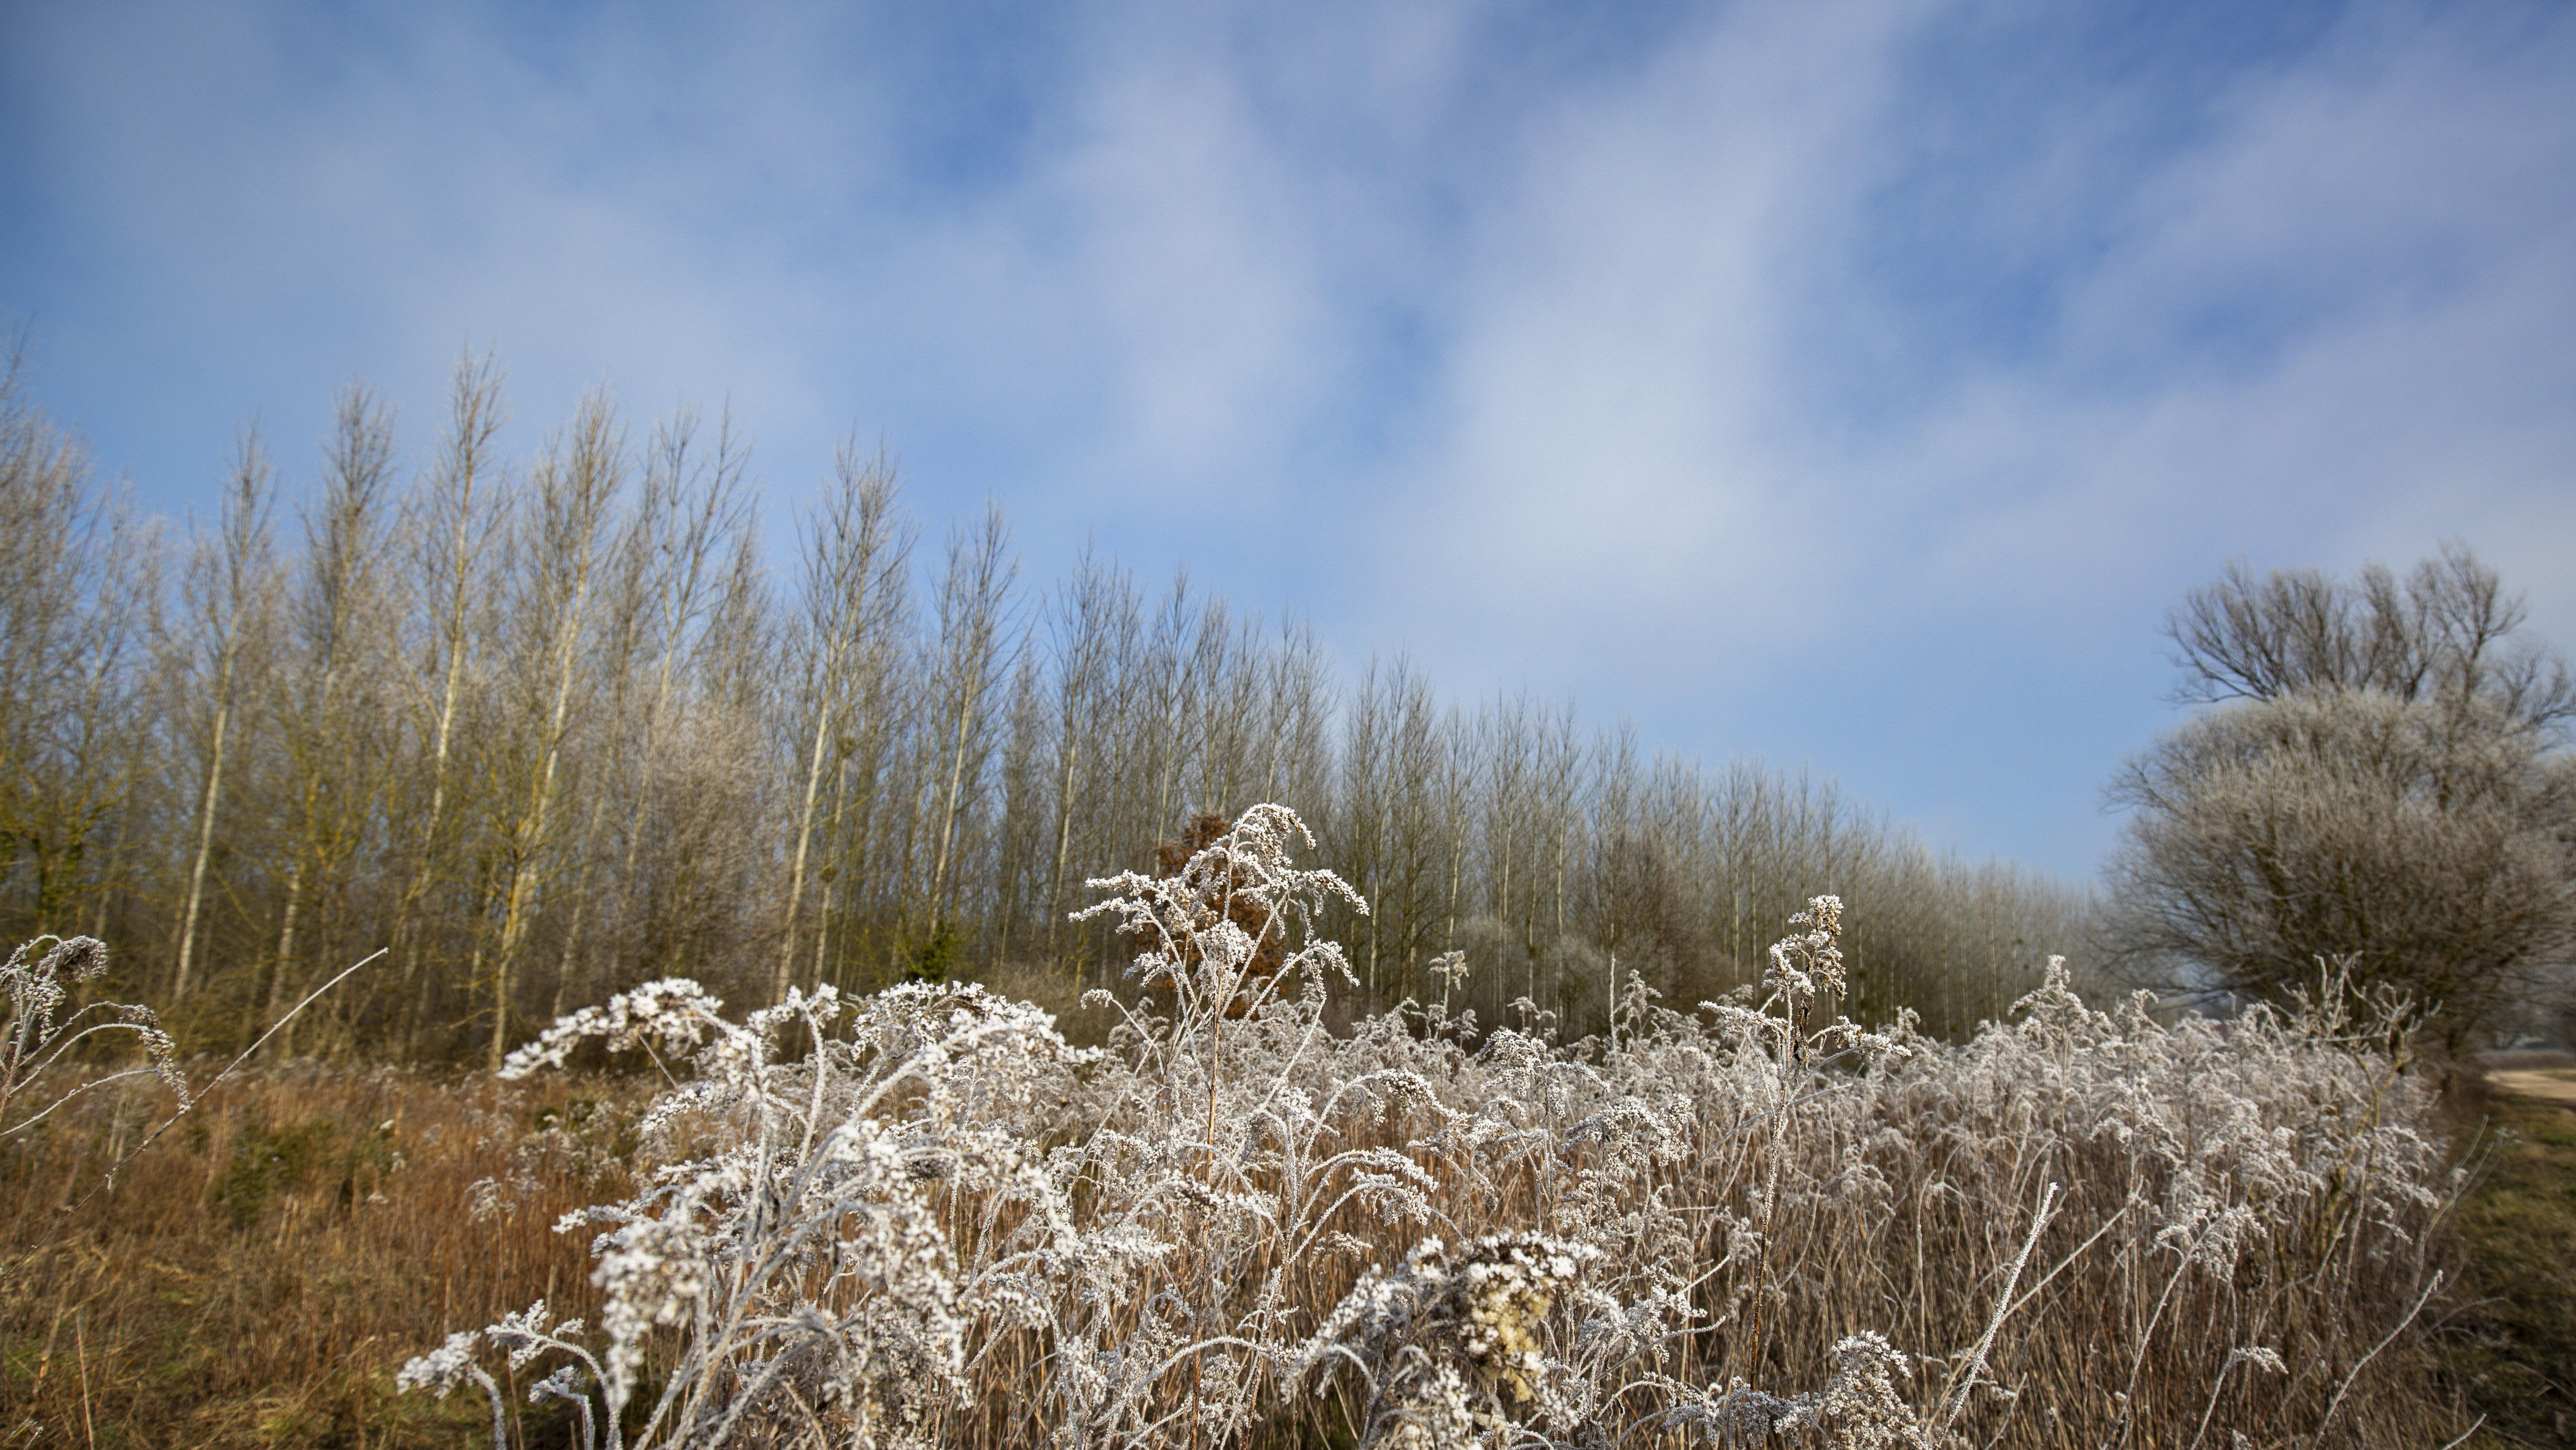
M 88 1200 L 142 1092 L 0 1149 L 0 1442 L 464 1442 L 479 1411 L 397 1396 L 394 1370 L 451 1326 L 592 1295 L 582 1244 L 549 1229 L 623 1190 L 598 1097 L 273 1071 L 216 1087 Z M 489 1177 L 520 1200 L 474 1221 Z

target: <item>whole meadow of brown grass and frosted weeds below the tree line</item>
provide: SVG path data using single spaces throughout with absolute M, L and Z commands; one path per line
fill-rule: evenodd
M 1862 1030 L 1819 896 L 1734 999 L 1334 1030 L 1306 847 L 1257 806 L 1097 881 L 1139 956 L 1087 1043 L 667 979 L 502 1074 L 227 1082 L 113 1190 L 157 1100 L 88 1095 L 8 1138 L 8 1442 L 2465 1442 L 2406 1002 L 2056 968 Z

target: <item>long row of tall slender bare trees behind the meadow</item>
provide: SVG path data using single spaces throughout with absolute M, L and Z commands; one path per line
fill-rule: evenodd
M 590 397 L 531 458 L 459 366 L 417 458 L 363 386 L 309 487 L 245 433 L 219 507 L 144 515 L 0 384 L 0 917 L 118 945 L 188 1040 L 497 1061 L 649 976 L 999 976 L 1069 1004 L 1133 945 L 1069 912 L 1200 816 L 1296 806 L 1370 901 L 1329 922 L 1355 1010 L 1515 999 L 1595 1030 L 1643 981 L 1757 981 L 1816 891 L 1852 901 L 1860 1015 L 1963 1033 L 2089 899 L 1960 863 L 1832 783 L 1654 755 L 1528 695 L 1342 675 L 1296 621 L 1084 554 L 1018 569 L 997 510 L 925 538 L 845 448 L 760 543 L 726 420 Z M 1453 1002 L 1455 1004 L 1455 1002 Z

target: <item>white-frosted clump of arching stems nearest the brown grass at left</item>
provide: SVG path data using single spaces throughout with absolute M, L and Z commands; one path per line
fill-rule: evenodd
M 804 1053 L 781 1053 L 786 1033 Z M 961 1396 L 966 1324 L 981 1308 L 933 1192 L 1025 1177 L 1007 1118 L 1048 1084 L 1061 1097 L 1082 1059 L 1054 1020 L 979 986 L 909 984 L 858 1004 L 791 989 L 732 1022 L 719 999 L 670 979 L 564 1017 L 502 1074 L 559 1066 L 582 1040 L 688 1071 L 639 1123 L 649 1151 L 680 1154 L 693 1136 L 716 1149 L 662 1162 L 636 1198 L 556 1226 L 605 1226 L 592 1241 L 598 1360 L 569 1332 L 538 1344 L 502 1321 L 487 1337 L 577 1355 L 587 1378 L 554 1378 L 546 1393 L 590 1419 L 595 1388 L 611 1445 L 657 1326 L 680 1329 L 680 1352 L 639 1445 L 724 1442 L 809 1417 L 863 1442 L 927 1442 L 933 1411 Z M 435 1370 L 428 1357 L 412 1368 Z

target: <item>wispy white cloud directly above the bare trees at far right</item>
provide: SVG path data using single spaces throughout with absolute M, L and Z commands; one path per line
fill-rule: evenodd
M 2012 479 L 1942 569 L 2172 590 L 2236 551 L 2406 559 L 2566 497 L 2576 124 L 2548 39 L 2558 64 L 2370 26 L 2239 88 L 2063 281 L 2058 345 L 1929 433 L 1935 469 Z

